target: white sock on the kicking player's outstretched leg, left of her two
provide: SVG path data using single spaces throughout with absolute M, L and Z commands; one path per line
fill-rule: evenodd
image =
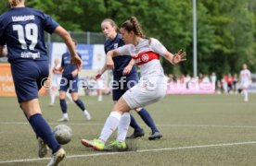
M 109 114 L 109 117 L 101 130 L 100 136 L 98 137 L 98 139 L 100 139 L 102 143 L 105 144 L 105 142 L 107 142 L 107 140 L 109 139 L 109 136 L 111 136 L 112 133 L 117 129 L 120 119 L 121 114 L 118 112 L 111 112 Z

